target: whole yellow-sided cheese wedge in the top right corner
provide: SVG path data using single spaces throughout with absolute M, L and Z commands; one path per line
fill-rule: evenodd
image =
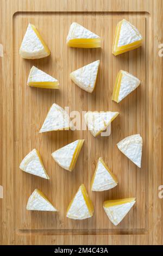
M 140 47 L 141 44 L 142 35 L 134 25 L 124 19 L 118 22 L 112 47 L 112 53 L 115 56 L 134 50 Z

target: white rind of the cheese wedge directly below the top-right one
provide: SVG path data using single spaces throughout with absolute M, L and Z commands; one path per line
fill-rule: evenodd
M 140 80 L 137 77 L 123 70 L 121 70 L 121 73 L 122 79 L 120 92 L 118 95 L 118 102 L 120 102 L 122 99 L 124 99 L 124 97 L 133 92 L 133 90 L 135 90 L 140 84 Z

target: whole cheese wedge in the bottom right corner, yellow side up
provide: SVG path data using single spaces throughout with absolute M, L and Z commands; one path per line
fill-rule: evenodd
M 103 207 L 109 220 L 114 225 L 118 225 L 134 204 L 135 198 L 125 198 L 105 201 Z

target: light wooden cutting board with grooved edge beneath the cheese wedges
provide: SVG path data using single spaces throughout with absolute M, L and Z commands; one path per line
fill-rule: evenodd
M 161 244 L 162 204 L 158 196 L 162 180 L 162 58 L 158 46 L 161 34 L 162 2 L 121 1 L 1 1 L 1 243 L 2 244 Z M 143 35 L 137 50 L 114 57 L 112 41 L 117 22 L 127 19 Z M 76 21 L 102 38 L 102 48 L 80 49 L 66 45 L 68 29 Z M 33 23 L 51 50 L 39 60 L 18 54 L 28 23 Z M 161 41 L 162 40 L 162 41 Z M 78 88 L 70 72 L 101 60 L 96 89 L 92 94 Z M 32 65 L 58 78 L 60 90 L 27 87 Z M 117 72 L 126 70 L 141 80 L 141 86 L 121 103 L 111 101 Z M 94 138 L 89 131 L 59 131 L 39 134 L 52 103 L 82 113 L 88 110 L 119 111 L 111 135 Z M 122 155 L 116 143 L 140 133 L 143 138 L 142 168 Z M 51 153 L 76 139 L 85 139 L 73 172 L 60 168 Z M 40 151 L 50 180 L 22 172 L 18 167 L 30 150 Z M 98 158 L 117 175 L 118 186 L 110 191 L 91 192 L 90 181 Z M 95 206 L 92 218 L 66 218 L 70 200 L 84 183 Z M 0 184 L 0 185 L 1 185 Z M 26 210 L 28 197 L 39 188 L 59 209 L 53 212 Z M 115 227 L 105 215 L 107 199 L 136 197 L 136 204 Z

